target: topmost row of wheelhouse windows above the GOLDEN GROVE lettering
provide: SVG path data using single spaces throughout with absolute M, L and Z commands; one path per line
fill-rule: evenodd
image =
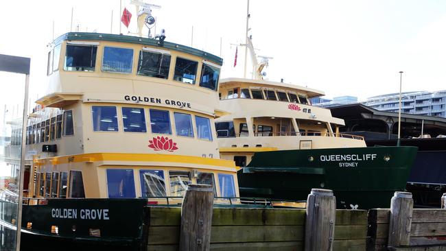
M 104 47 L 102 71 L 111 73 L 132 73 L 133 49 L 121 47 Z M 48 75 L 58 70 L 60 45 L 48 54 Z M 64 71 L 95 71 L 97 45 L 67 45 Z M 147 77 L 169 78 L 172 56 L 169 51 L 144 48 L 139 51 L 137 75 Z M 198 62 L 186 58 L 175 58 L 173 80 L 188 84 L 196 84 Z M 217 90 L 220 68 L 203 62 L 200 86 Z

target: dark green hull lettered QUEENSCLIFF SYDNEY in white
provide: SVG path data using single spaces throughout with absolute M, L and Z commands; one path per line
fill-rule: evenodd
M 307 200 L 331 189 L 338 208 L 388 208 L 404 191 L 416 147 L 356 147 L 259 152 L 239 171 L 243 197 Z

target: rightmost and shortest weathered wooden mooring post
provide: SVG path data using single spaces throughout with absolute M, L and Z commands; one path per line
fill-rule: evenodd
M 395 192 L 390 202 L 389 247 L 409 246 L 413 208 L 412 193 Z

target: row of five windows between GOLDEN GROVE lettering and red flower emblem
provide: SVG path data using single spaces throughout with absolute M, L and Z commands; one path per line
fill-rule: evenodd
M 124 132 L 147 132 L 145 109 L 123 107 L 122 123 Z M 93 130 L 95 132 L 117 132 L 118 116 L 115 106 L 92 106 Z M 173 112 L 176 135 L 194 137 L 192 115 L 183 112 Z M 150 129 L 152 133 L 172 134 L 169 110 L 149 109 Z M 209 118 L 193 116 L 198 139 L 212 141 L 211 121 Z

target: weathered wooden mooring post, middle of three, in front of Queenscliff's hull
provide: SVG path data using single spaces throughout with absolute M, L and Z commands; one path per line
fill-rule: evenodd
M 328 189 L 312 189 L 307 198 L 305 251 L 331 251 L 336 218 L 336 198 Z

